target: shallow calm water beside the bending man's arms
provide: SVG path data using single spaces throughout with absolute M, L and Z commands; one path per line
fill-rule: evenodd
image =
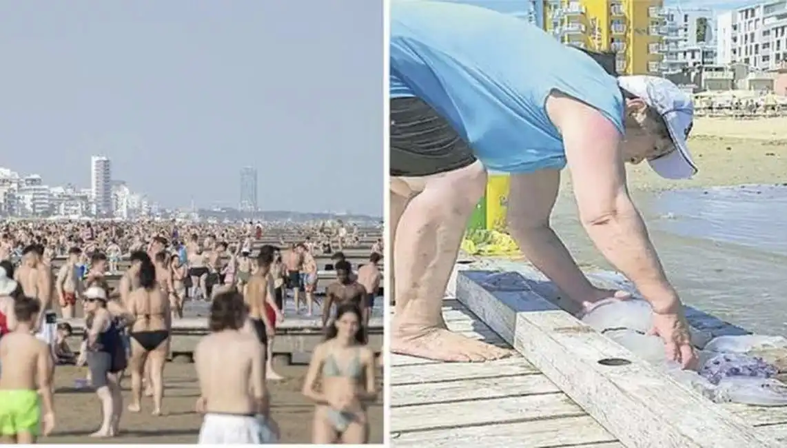
M 635 202 L 685 303 L 749 331 L 787 335 L 787 187 L 663 191 Z M 571 198 L 555 215 L 578 261 L 608 267 Z

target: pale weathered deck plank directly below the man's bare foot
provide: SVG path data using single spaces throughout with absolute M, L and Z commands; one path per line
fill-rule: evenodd
M 522 357 L 509 357 L 485 363 L 445 362 L 439 365 L 399 365 L 390 368 L 390 384 L 438 383 L 440 381 L 534 375 L 538 369 Z

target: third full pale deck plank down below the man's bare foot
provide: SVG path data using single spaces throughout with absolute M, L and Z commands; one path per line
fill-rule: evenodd
M 464 428 L 556 417 L 578 417 L 585 412 L 564 394 L 528 395 L 475 400 L 464 404 L 436 403 L 395 409 L 391 431 Z

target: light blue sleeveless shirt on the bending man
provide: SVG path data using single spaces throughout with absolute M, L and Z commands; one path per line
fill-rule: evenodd
M 592 57 L 540 28 L 478 6 L 393 0 L 390 97 L 417 97 L 449 120 L 490 169 L 566 165 L 546 100 L 560 91 L 623 133 L 623 96 Z

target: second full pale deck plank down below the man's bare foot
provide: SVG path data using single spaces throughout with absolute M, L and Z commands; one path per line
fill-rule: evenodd
M 425 366 L 424 368 L 441 367 Z M 518 375 L 442 383 L 400 384 L 391 388 L 389 399 L 390 405 L 395 407 L 556 393 L 560 393 L 560 389 L 546 376 Z

